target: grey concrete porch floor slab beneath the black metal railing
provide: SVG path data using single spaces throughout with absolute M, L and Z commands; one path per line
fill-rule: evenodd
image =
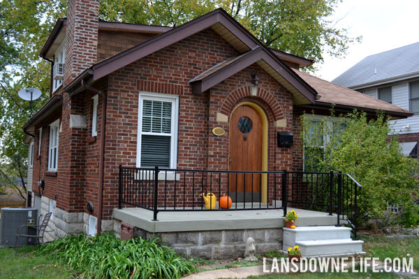
M 328 213 L 295 210 L 297 226 L 336 225 L 337 216 Z M 285 227 L 282 209 L 257 209 L 249 211 L 170 211 L 159 212 L 158 221 L 152 221 L 153 211 L 140 208 L 114 209 L 112 218 L 147 232 L 194 232 L 226 229 L 270 229 Z M 342 222 L 343 223 L 343 222 Z

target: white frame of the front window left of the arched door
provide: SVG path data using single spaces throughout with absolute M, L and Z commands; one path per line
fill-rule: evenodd
M 142 132 L 142 104 L 144 100 L 156 100 L 172 103 L 172 123 L 171 132 L 168 133 L 152 133 Z M 177 164 L 177 122 L 179 119 L 179 96 L 162 94 L 162 93 L 148 93 L 140 92 L 138 97 L 138 137 L 137 137 L 137 167 L 141 167 L 141 137 L 142 135 L 166 135 L 170 136 L 170 169 L 175 169 Z

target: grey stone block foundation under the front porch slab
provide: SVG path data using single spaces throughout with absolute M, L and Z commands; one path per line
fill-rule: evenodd
M 120 235 L 120 222 L 115 220 L 114 232 Z M 116 232 L 115 229 L 119 229 Z M 237 229 L 201 232 L 146 232 L 135 228 L 135 235 L 144 239 L 161 237 L 170 248 L 182 256 L 201 259 L 235 259 L 244 257 L 246 240 L 252 237 L 256 254 L 279 250 L 282 246 L 282 229 Z

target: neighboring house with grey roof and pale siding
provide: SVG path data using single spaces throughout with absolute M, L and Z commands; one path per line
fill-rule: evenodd
M 418 158 L 419 141 L 419 43 L 370 55 L 332 80 L 409 110 L 413 116 L 392 121 L 404 156 Z

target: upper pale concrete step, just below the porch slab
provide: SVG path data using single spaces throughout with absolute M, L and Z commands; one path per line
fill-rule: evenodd
M 284 227 L 284 243 L 292 246 L 296 241 L 351 239 L 351 228 L 335 226 Z

